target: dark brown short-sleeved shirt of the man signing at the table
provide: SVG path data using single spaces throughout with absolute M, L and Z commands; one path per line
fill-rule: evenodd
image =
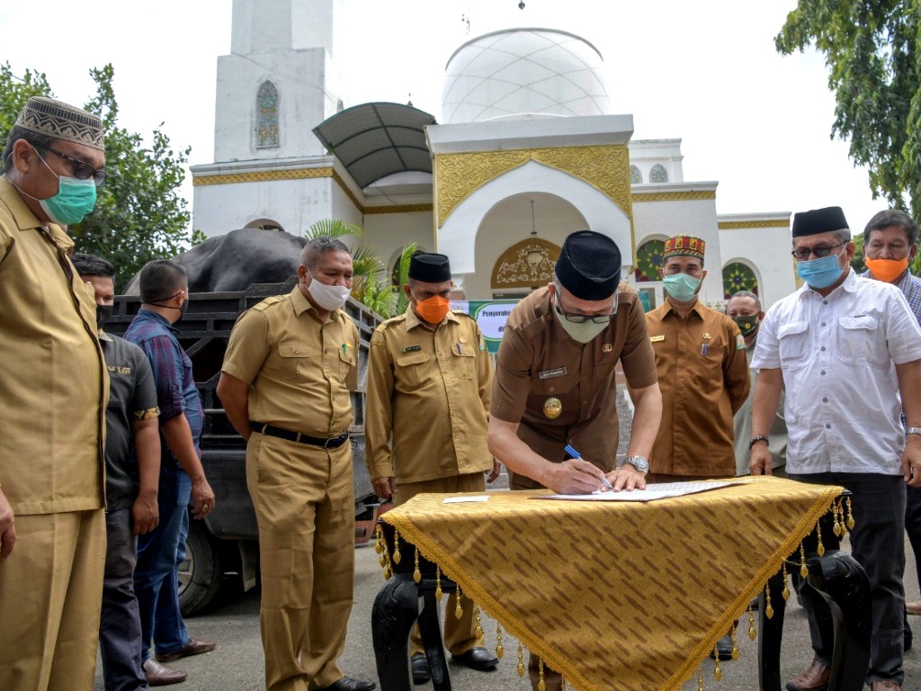
M 632 287 L 621 284 L 617 315 L 585 345 L 560 325 L 549 289 L 535 290 L 508 315 L 495 361 L 490 414 L 520 423 L 519 439 L 548 461 L 565 461 L 563 447 L 571 443 L 585 460 L 611 471 L 619 430 L 618 359 L 635 389 L 656 383 L 646 320 Z M 562 410 L 553 417 L 556 404 Z M 519 488 L 540 486 L 519 474 L 510 480 Z

